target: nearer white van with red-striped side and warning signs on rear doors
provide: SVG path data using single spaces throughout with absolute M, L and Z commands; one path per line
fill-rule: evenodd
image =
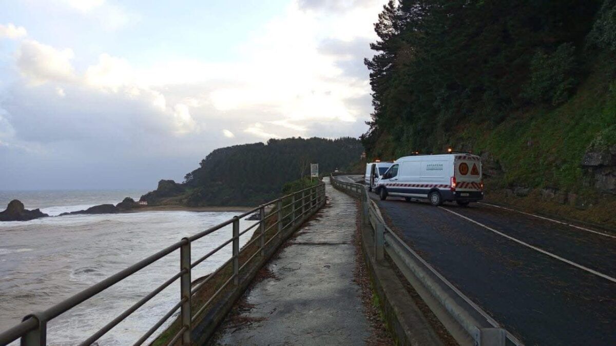
M 394 161 L 375 190 L 381 199 L 427 198 L 434 206 L 445 201 L 468 206 L 484 198 L 481 159 L 463 153 L 405 156 Z

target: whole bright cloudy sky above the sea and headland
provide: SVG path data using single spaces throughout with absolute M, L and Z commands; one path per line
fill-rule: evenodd
M 0 190 L 154 188 L 213 149 L 357 137 L 385 0 L 0 0 Z

